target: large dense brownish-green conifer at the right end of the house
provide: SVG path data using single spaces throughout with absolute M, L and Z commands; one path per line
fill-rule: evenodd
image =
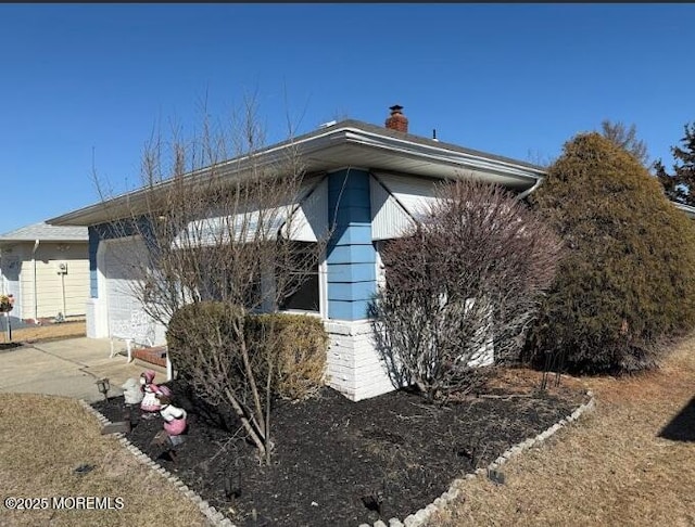
M 695 322 L 695 227 L 626 150 L 599 133 L 565 144 L 534 207 L 567 247 L 532 332 L 535 356 L 574 371 L 637 371 Z

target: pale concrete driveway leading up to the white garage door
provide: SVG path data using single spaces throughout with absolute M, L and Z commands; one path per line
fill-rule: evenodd
M 122 343 L 115 343 L 116 350 Z M 123 346 L 122 346 L 123 347 Z M 121 385 L 138 378 L 144 368 L 127 363 L 124 355 L 109 358 L 106 338 L 70 338 L 36 343 L 0 351 L 0 393 L 48 394 L 94 402 L 103 399 L 97 380 L 108 377 L 109 396 L 123 393 Z M 157 373 L 164 381 L 166 375 Z

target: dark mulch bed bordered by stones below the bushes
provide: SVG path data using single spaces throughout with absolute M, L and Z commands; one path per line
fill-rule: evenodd
M 236 525 L 257 527 L 403 520 L 455 478 L 569 415 L 584 397 L 569 388 L 511 397 L 496 389 L 438 408 L 405 391 L 352 402 L 324 388 L 313 400 L 275 403 L 277 445 L 265 466 L 232 417 L 214 415 L 177 381 L 166 385 L 189 414 L 176 461 L 150 445 L 162 429 L 159 415 L 140 419 L 127 437 Z M 116 397 L 94 408 L 122 421 L 125 403 Z

